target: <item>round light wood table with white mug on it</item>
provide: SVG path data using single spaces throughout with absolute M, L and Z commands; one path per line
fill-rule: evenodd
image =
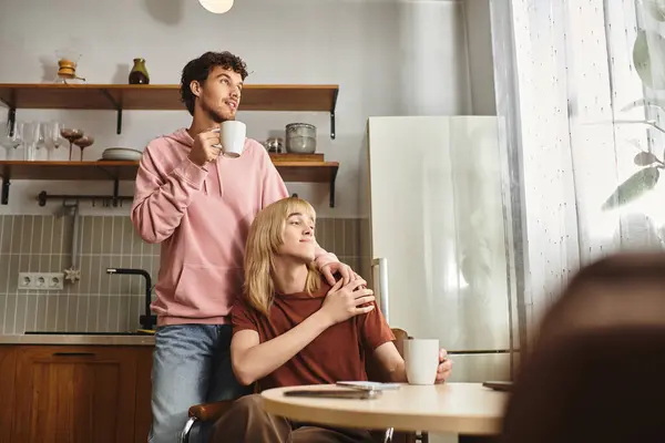
M 497 435 L 505 392 L 481 383 L 402 384 L 372 400 L 285 396 L 293 389 L 344 389 L 335 385 L 290 387 L 262 393 L 264 409 L 289 420 L 340 427 L 388 429 Z

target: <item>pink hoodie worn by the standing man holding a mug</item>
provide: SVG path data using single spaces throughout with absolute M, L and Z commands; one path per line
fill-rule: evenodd
M 229 321 L 242 293 L 243 256 L 256 214 L 288 197 L 266 150 L 247 138 L 239 158 L 198 167 L 187 155 L 194 141 L 182 128 L 150 142 L 141 158 L 132 223 L 147 243 L 162 244 L 157 324 Z M 317 265 L 337 261 L 320 247 Z

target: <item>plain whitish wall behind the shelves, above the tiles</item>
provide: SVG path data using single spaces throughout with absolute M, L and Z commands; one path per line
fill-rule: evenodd
M 195 0 L 22 0 L 0 2 L 0 82 L 51 81 L 55 51 L 75 47 L 89 83 L 126 83 L 132 59 L 146 59 L 154 84 L 177 83 L 183 65 L 207 50 L 229 50 L 252 71 L 247 83 L 338 83 L 337 140 L 326 113 L 241 112 L 248 135 L 265 140 L 286 123 L 318 127 L 319 152 L 339 161 L 337 207 L 327 187 L 288 185 L 320 216 L 368 215 L 365 127 L 369 115 L 471 113 L 463 2 L 236 0 L 229 13 L 208 13 Z M 242 105 L 241 105 L 242 107 Z M 4 112 L 4 110 L 2 110 Z M 2 117 L 3 115 L 0 115 Z M 105 111 L 19 110 L 19 120 L 60 120 L 96 137 L 85 158 L 110 146 L 142 150 L 154 136 L 190 123 L 183 112 L 125 112 L 123 133 Z M 75 148 L 75 147 L 74 147 Z M 61 155 L 65 155 L 63 152 Z M 78 192 L 81 184 L 14 182 L 0 214 L 47 214 L 32 199 L 45 188 Z M 131 192 L 132 184 L 124 185 Z M 111 184 L 86 185 L 104 192 Z M 84 209 L 85 214 L 122 214 Z

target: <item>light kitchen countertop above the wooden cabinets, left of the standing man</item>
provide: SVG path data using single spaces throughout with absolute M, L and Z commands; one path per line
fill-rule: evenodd
M 31 333 L 0 334 L 2 344 L 80 344 L 80 346 L 154 346 L 155 338 L 150 334 L 75 334 L 75 333 Z

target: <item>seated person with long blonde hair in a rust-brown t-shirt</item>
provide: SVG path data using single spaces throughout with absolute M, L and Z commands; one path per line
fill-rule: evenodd
M 372 357 L 395 382 L 405 362 L 359 277 L 330 287 L 313 266 L 315 212 L 285 198 L 263 209 L 249 228 L 245 291 L 235 305 L 231 359 L 237 380 L 265 389 L 367 380 Z M 437 381 L 450 374 L 441 351 Z M 257 394 L 237 400 L 215 424 L 211 442 L 365 442 L 368 431 L 294 423 L 263 411 Z

